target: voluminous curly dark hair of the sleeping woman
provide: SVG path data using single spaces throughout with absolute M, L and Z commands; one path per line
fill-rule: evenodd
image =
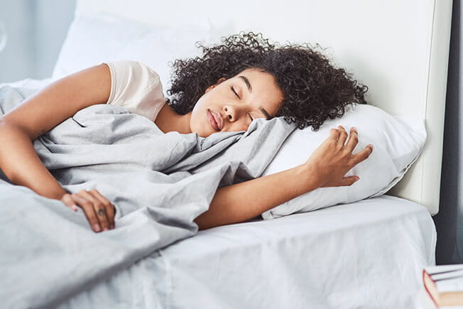
M 326 119 L 344 115 L 353 102 L 366 104 L 368 87 L 358 83 L 344 69 L 308 43 L 283 45 L 269 43 L 261 33 L 222 37 L 222 45 L 202 48 L 202 57 L 178 59 L 172 66 L 172 86 L 168 104 L 178 114 L 192 111 L 195 103 L 220 77 L 229 79 L 247 68 L 268 72 L 283 93 L 278 113 L 298 128 L 312 126 L 317 131 Z M 316 45 L 320 47 L 320 45 Z

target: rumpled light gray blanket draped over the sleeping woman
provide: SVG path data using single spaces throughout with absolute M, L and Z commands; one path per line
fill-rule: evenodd
M 4 114 L 34 90 L 0 88 Z M 65 104 L 65 103 L 63 103 Z M 124 107 L 82 109 L 33 141 L 65 190 L 96 188 L 116 207 L 116 228 L 95 233 L 84 212 L 0 180 L 0 300 L 50 308 L 197 232 L 217 188 L 256 178 L 295 129 L 283 119 L 244 132 L 163 134 Z M 95 308 L 103 308 L 96 304 Z

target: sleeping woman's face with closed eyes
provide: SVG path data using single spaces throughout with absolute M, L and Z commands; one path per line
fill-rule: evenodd
M 283 94 L 271 74 L 246 69 L 228 80 L 222 77 L 207 88 L 192 109 L 190 129 L 202 137 L 246 131 L 253 119 L 270 119 L 276 114 L 282 100 Z

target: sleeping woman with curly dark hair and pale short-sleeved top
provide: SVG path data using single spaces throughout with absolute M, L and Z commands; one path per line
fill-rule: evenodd
M 280 46 L 260 34 L 240 33 L 200 48 L 202 57 L 173 63 L 170 99 L 163 96 L 156 72 L 136 61 L 102 63 L 44 87 L 0 117 L 1 170 L 16 185 L 73 210 L 81 207 L 94 232 L 102 232 L 115 227 L 114 205 L 95 189 L 67 193 L 32 143 L 80 109 L 124 105 L 163 133 L 206 137 L 246 131 L 254 119 L 278 116 L 300 129 L 317 130 L 326 119 L 342 116 L 347 104 L 366 103 L 368 88 L 309 45 Z M 334 128 L 303 165 L 217 189 L 195 223 L 207 229 L 244 222 L 317 188 L 352 185 L 359 178 L 344 176 L 373 151 L 368 145 L 353 154 L 357 143 L 354 128 L 349 134 Z

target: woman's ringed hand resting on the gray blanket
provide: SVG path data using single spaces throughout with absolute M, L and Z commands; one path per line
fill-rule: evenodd
M 96 189 L 66 193 L 60 200 L 72 210 L 77 211 L 76 205 L 81 207 L 94 232 L 114 229 L 114 205 Z

